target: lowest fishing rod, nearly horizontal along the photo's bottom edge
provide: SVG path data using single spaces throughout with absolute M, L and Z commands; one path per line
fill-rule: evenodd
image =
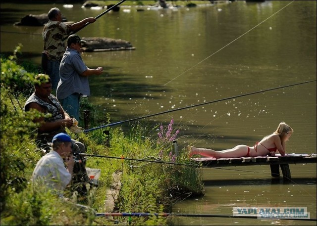
M 175 213 L 96 213 L 97 217 L 204 217 L 204 218 L 249 218 L 249 219 L 267 219 L 261 218 L 261 215 L 258 216 L 233 216 L 225 214 L 175 214 Z M 278 220 L 299 220 L 299 221 L 317 221 L 316 218 L 307 219 L 307 218 L 269 218 L 269 219 L 278 219 Z

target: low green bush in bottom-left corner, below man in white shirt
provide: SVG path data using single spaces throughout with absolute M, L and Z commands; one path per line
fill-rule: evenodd
M 1 225 L 90 225 L 91 214 L 83 214 L 71 201 L 58 198 L 46 187 L 29 183 L 23 191 L 12 189 L 9 193 Z

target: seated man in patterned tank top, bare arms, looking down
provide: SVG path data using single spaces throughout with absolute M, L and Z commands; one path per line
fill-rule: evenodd
M 39 74 L 35 77 L 35 91 L 27 99 L 24 105 L 25 111 L 31 109 L 38 110 L 49 117 L 35 118 L 35 123 L 40 123 L 36 142 L 38 147 L 46 151 L 50 150 L 50 142 L 53 137 L 59 133 L 66 133 L 65 128 L 73 125 L 73 119 L 63 110 L 57 98 L 51 94 L 52 83 L 48 75 Z M 72 153 L 85 153 L 85 145 L 77 140 L 71 139 Z M 84 193 L 86 186 L 84 183 L 89 182 L 85 168 L 85 160 L 81 155 L 76 156 L 77 160 L 74 166 L 72 185 L 78 192 Z

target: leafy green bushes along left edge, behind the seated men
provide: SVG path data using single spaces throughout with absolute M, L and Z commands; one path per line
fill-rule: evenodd
M 18 89 L 12 90 L 22 88 L 11 84 L 16 77 L 2 79 L 2 76 L 9 78 L 12 71 L 20 68 L 14 60 L 10 62 L 1 57 L 1 225 L 91 224 L 95 216 L 83 216 L 78 213 L 78 207 L 74 211 L 74 204 L 62 203 L 62 199 L 47 192 L 47 188 L 31 186 L 33 169 L 41 158 L 34 140 L 39 125 L 33 123 L 33 119 L 43 114 L 35 110 L 24 112 L 21 103 L 24 104 L 27 97 L 17 92 Z M 25 73 L 20 79 L 26 81 L 24 75 L 31 74 Z

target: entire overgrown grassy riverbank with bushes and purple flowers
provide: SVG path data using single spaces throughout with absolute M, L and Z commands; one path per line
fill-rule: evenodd
M 21 66 L 16 62 L 16 54 L 1 56 L 1 225 L 172 224 L 163 217 L 117 217 L 115 221 L 96 217 L 96 212 L 105 212 L 106 190 L 113 182 L 114 172 L 122 173 L 122 187 L 115 203 L 115 211 L 119 213 L 169 212 L 172 203 L 188 194 L 203 194 L 200 168 L 184 166 L 189 164 L 184 150 L 179 156 L 174 155 L 171 141 L 181 132 L 173 128 L 172 119 L 166 119 L 170 121 L 166 128 L 148 129 L 146 122 L 143 125 L 136 122 L 127 133 L 120 128 L 85 134 L 68 131 L 72 138 L 85 144 L 88 154 L 94 155 L 87 157 L 86 167 L 101 169 L 98 187 L 89 188 L 88 196 L 67 188 L 68 201 L 57 198 L 46 187 L 34 187 L 30 179 L 41 152 L 37 151 L 34 140 L 38 125 L 32 120 L 40 113 L 24 112 L 22 108 L 33 91 L 34 76 L 40 71 L 32 64 Z M 84 104 L 93 109 L 91 104 Z M 92 118 L 98 119 L 98 112 L 92 114 Z M 91 126 L 97 125 L 100 122 Z M 105 130 L 109 130 L 109 137 Z M 133 163 L 134 159 L 149 156 L 160 158 L 161 162 Z

